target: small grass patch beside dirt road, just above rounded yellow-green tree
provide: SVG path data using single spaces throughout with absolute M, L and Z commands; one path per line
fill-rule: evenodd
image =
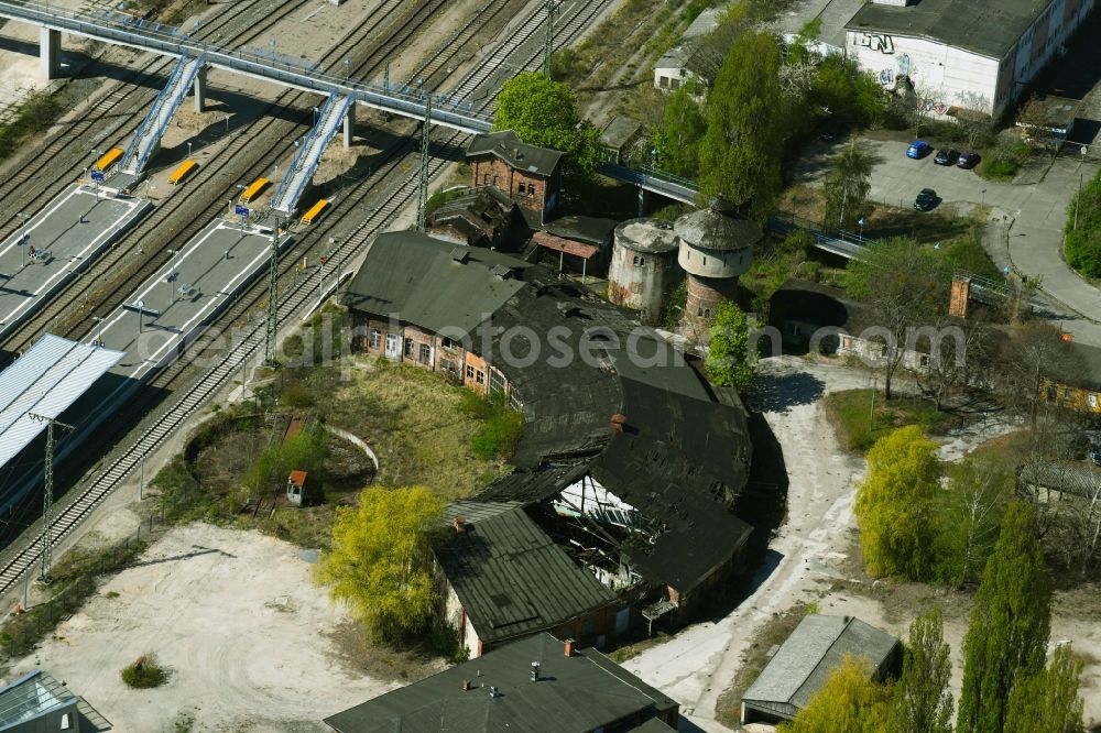
M 895 397 L 887 401 L 881 392 L 875 393 L 873 412 L 871 390 L 833 392 L 824 397 L 824 403 L 838 441 L 857 453 L 863 453 L 896 428 L 919 425 L 926 433 L 942 434 L 957 420 L 952 413 L 938 412 L 927 400 Z

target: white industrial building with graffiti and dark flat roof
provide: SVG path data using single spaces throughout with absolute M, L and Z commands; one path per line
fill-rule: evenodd
M 1060 52 L 1093 0 L 872 0 L 846 24 L 846 53 L 887 89 L 904 79 L 934 118 L 999 117 Z

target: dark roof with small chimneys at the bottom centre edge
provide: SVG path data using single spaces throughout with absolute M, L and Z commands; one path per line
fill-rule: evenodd
M 539 681 L 531 681 L 538 661 Z M 462 682 L 472 689 L 464 691 Z M 495 687 L 497 697 L 490 697 Z M 549 634 L 506 644 L 326 718 L 340 733 L 582 733 L 674 711 L 676 701 L 595 649 L 567 657 Z

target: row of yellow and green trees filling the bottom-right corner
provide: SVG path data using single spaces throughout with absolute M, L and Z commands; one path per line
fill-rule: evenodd
M 1082 663 L 1069 644 L 1045 664 L 1051 580 L 1034 510 L 1006 511 L 963 639 L 960 733 L 1080 733 Z M 902 676 L 879 683 L 860 659 L 847 658 L 785 733 L 950 733 L 949 647 L 939 610 L 909 628 Z

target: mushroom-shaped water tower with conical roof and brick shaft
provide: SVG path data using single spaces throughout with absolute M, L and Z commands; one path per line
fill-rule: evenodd
M 680 239 L 677 261 L 688 273 L 680 332 L 704 343 L 719 302 L 734 299 L 738 277 L 753 263 L 761 228 L 735 216 L 730 201 L 720 196 L 706 209 L 677 219 L 674 229 Z

